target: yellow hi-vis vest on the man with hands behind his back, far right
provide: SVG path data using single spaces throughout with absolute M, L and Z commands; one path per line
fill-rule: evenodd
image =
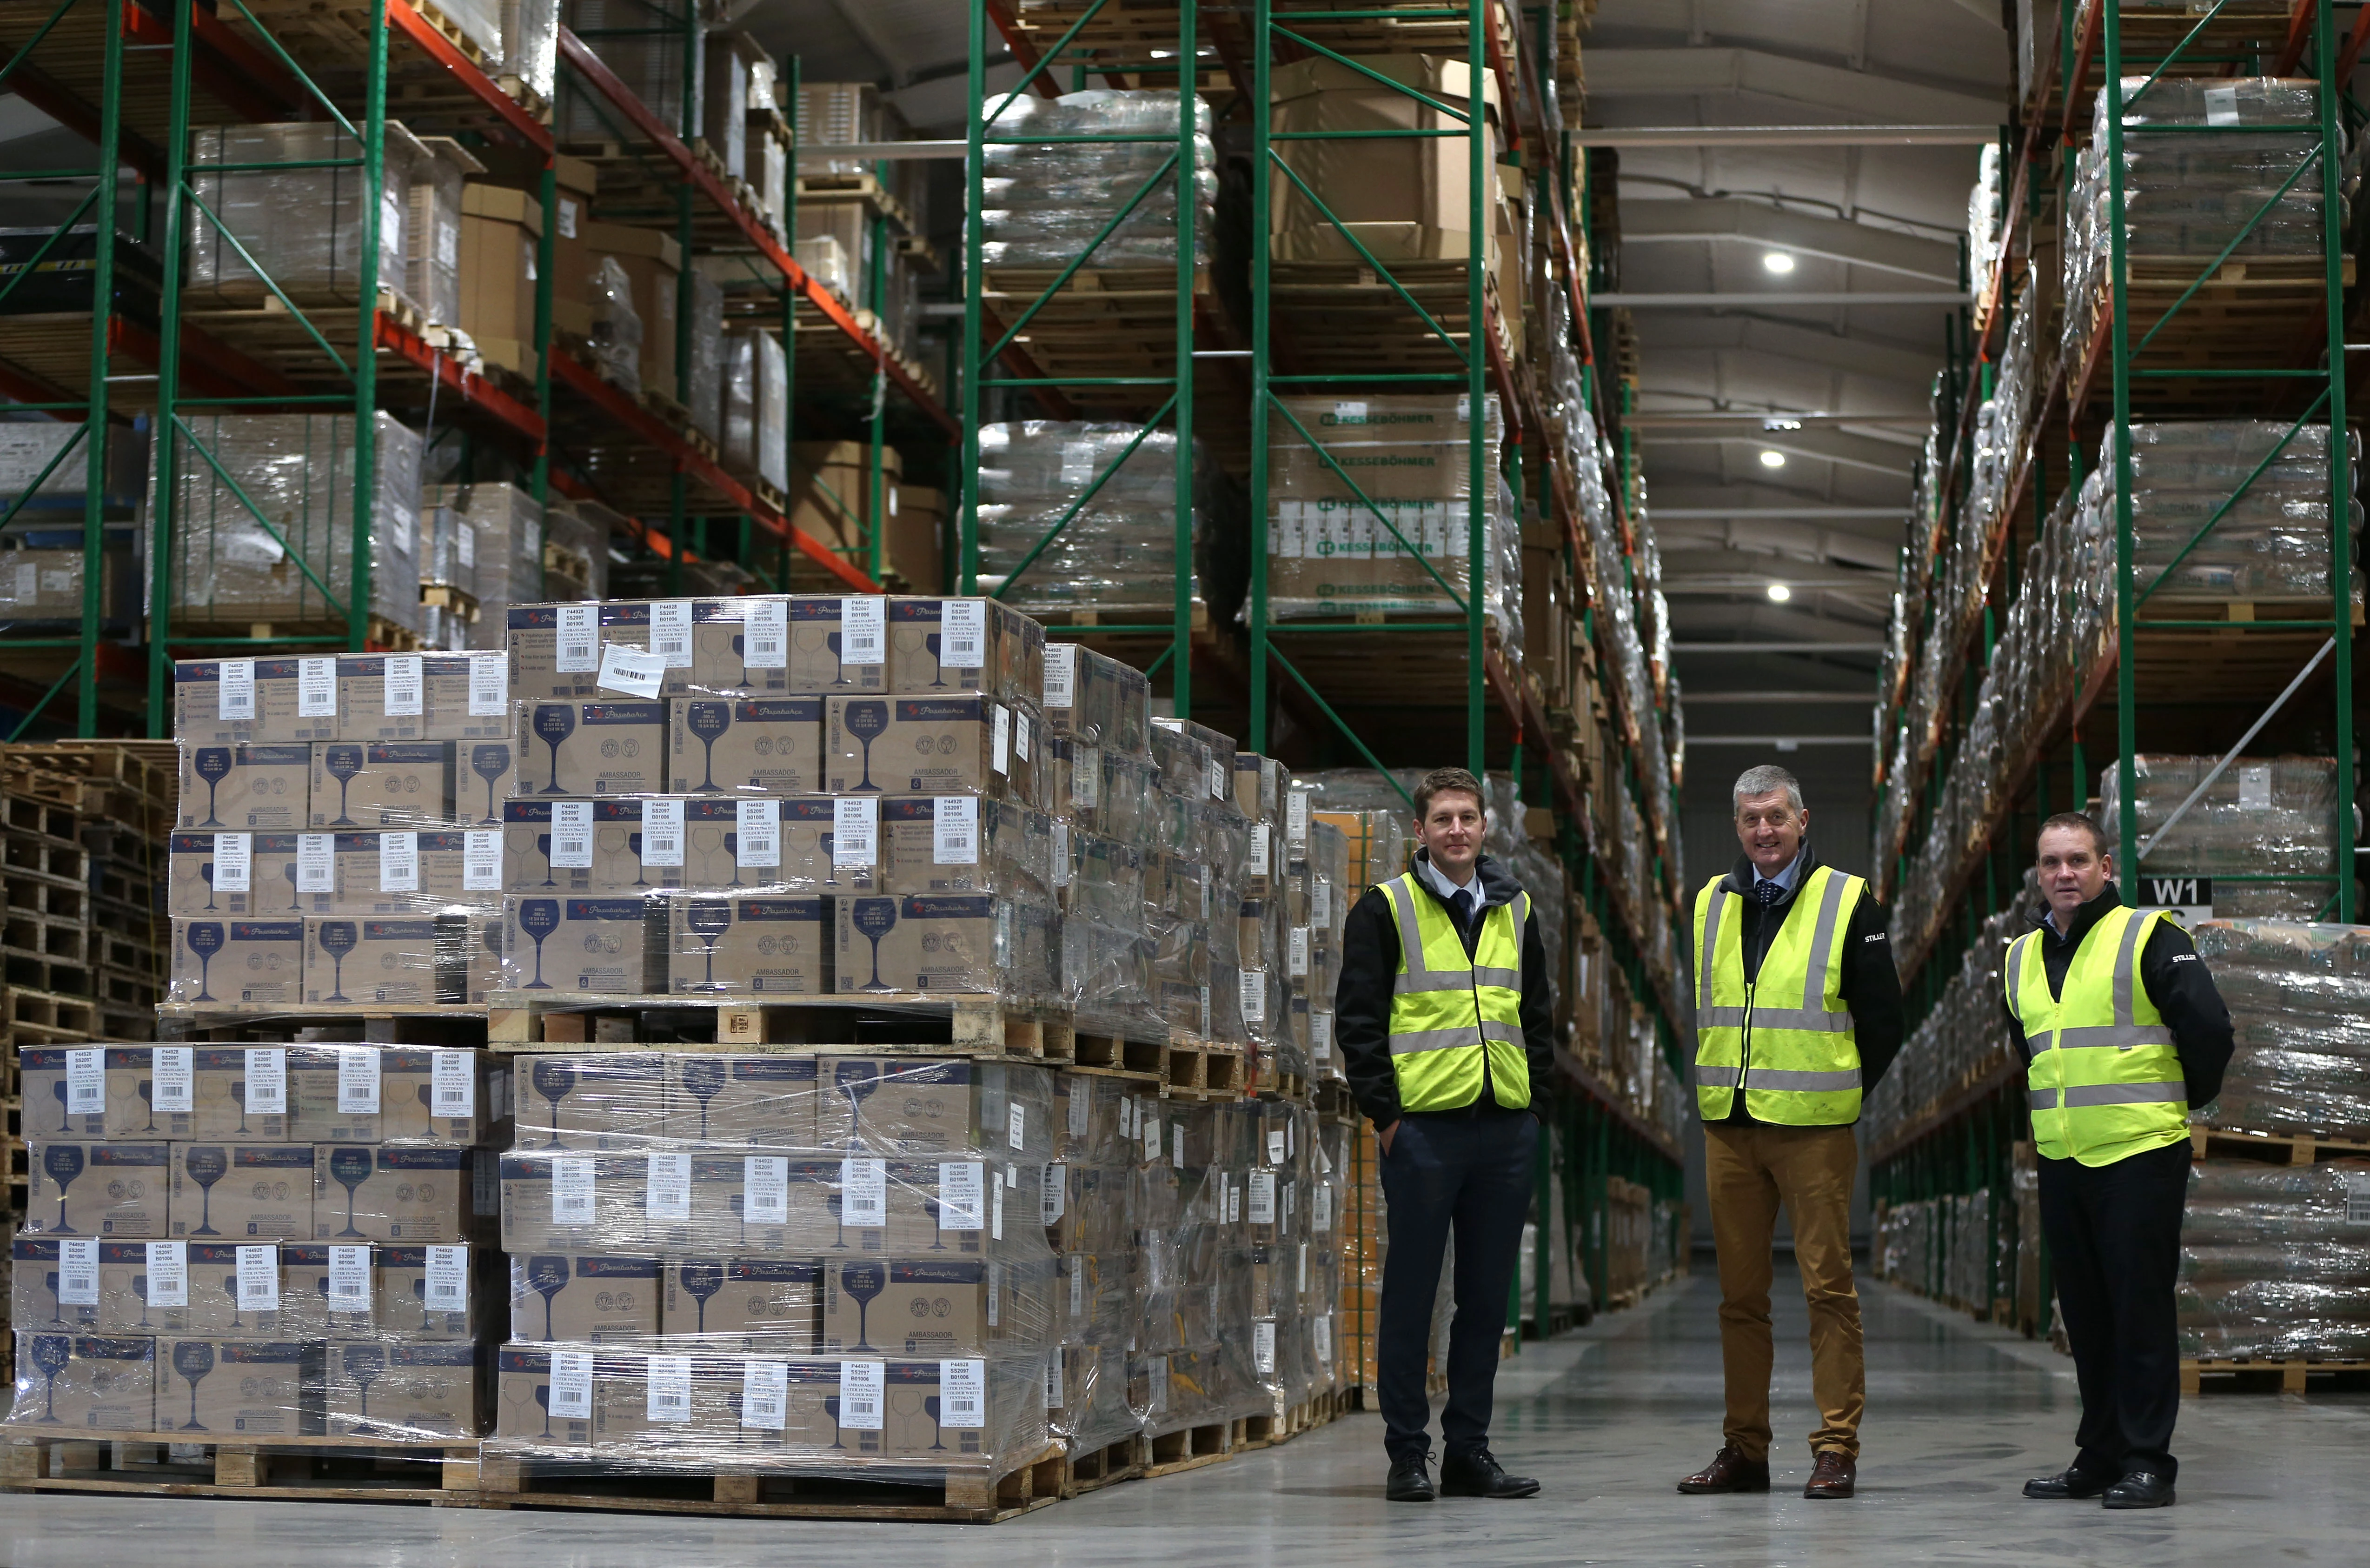
M 2007 945 L 2000 976 L 2033 1052 L 2024 1094 L 2043 1158 L 2112 1165 L 2190 1135 L 2180 1052 L 2140 983 L 2140 950 L 2159 919 L 2164 910 L 2109 910 L 2083 933 L 2055 997 L 2041 933 Z

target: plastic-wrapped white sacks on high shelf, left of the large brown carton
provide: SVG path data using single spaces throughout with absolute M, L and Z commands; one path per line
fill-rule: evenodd
M 1178 263 L 1178 95 L 1090 88 L 1062 97 L 995 97 L 988 123 L 984 261 L 991 268 L 1064 268 L 1090 244 L 1088 268 L 1173 268 Z M 991 114 L 995 109 L 988 109 Z M 1209 104 L 1194 99 L 1192 263 L 1209 261 L 1218 197 Z M 1159 137 L 1164 142 L 1019 142 L 1017 137 Z M 1149 182 L 1149 189 L 1145 189 Z M 1109 234 L 1102 234 L 1104 230 Z M 1095 244 L 1095 237 L 1102 242 Z

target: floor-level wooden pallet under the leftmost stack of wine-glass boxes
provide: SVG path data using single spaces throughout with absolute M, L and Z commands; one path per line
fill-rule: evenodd
M 258 1438 L 182 1447 L 185 1435 L 9 1426 L 0 1490 L 438 1504 L 467 1504 L 476 1492 L 474 1438 Z M 417 1473 L 389 1476 L 391 1464 Z

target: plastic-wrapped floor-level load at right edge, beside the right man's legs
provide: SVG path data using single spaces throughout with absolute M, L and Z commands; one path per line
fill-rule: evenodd
M 2370 1163 L 2199 1161 L 2176 1300 L 2183 1355 L 2370 1355 Z

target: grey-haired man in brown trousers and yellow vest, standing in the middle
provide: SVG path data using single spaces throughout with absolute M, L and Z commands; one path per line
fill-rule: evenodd
M 1695 898 L 1695 1104 L 1721 1255 L 1721 1452 L 1680 1492 L 1770 1487 L 1770 1248 L 1778 1208 L 1811 1307 L 1811 1480 L 1851 1497 L 1860 1461 L 1860 1293 L 1851 1284 L 1851 1123 L 1901 1049 L 1901 978 L 1868 883 L 1818 862 L 1801 784 L 1747 767 L 1728 876 Z

